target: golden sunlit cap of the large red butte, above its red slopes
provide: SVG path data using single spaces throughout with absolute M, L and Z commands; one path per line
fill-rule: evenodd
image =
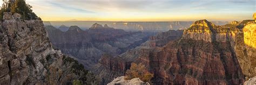
M 236 22 L 232 23 L 235 24 Z M 185 30 L 183 39 L 204 40 L 206 42 L 231 41 L 234 44 L 235 34 L 238 32 L 238 28 L 229 25 L 217 26 L 204 19 L 194 22 L 190 28 Z

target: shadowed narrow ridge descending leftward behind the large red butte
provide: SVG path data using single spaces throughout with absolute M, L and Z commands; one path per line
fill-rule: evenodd
M 140 46 L 131 49 L 118 56 L 102 55 L 99 63 L 93 67 L 94 73 L 98 74 L 96 77 L 102 77 L 101 84 L 111 82 L 115 77 L 125 74 L 125 70 L 130 68 L 131 62 L 140 59 L 139 56 L 147 56 L 155 48 L 159 48 L 167 44 L 169 41 L 181 38 L 183 30 L 170 30 L 152 36 L 149 40 Z

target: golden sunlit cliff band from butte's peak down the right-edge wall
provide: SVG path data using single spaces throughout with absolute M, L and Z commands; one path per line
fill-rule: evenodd
M 207 42 L 227 42 L 231 45 L 235 56 L 238 58 L 246 80 L 256 75 L 255 73 L 255 24 L 253 20 L 243 20 L 242 22 L 231 22 L 223 26 L 216 26 L 206 20 L 199 20 L 202 24 L 195 22 L 190 29 L 185 30 L 184 39 L 204 40 Z M 201 31 L 198 27 L 201 25 Z M 193 29 L 195 28 L 195 29 Z M 203 29 L 202 29 L 203 28 Z

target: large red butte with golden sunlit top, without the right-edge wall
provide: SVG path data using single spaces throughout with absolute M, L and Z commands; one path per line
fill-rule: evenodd
M 238 29 L 217 26 L 207 20 L 194 22 L 183 38 L 138 56 L 159 84 L 241 84 L 244 80 L 232 44 Z M 146 59 L 146 60 L 144 60 Z

